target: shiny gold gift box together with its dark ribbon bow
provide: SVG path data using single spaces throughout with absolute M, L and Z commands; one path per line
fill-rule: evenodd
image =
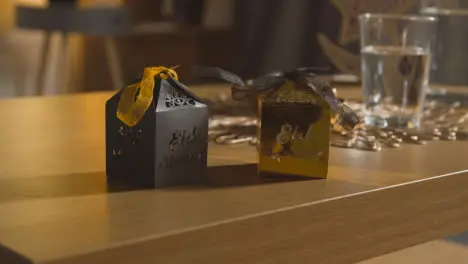
M 231 83 L 235 100 L 257 99 L 260 176 L 326 178 L 332 110 L 346 130 L 359 123 L 357 114 L 313 71 L 273 72 L 244 82 L 220 68 L 199 68 L 200 76 Z

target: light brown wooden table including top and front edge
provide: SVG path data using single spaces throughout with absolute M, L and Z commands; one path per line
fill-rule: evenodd
M 468 229 L 468 142 L 332 148 L 329 179 L 289 182 L 210 145 L 206 187 L 107 184 L 110 96 L 0 101 L 0 263 L 354 263 Z

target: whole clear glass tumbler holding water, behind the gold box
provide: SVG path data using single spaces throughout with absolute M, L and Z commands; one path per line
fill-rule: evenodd
M 436 21 L 417 15 L 359 16 L 366 125 L 419 126 Z

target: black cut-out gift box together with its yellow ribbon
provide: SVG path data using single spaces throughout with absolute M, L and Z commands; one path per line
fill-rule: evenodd
M 109 181 L 147 187 L 204 182 L 208 108 L 174 70 L 146 68 L 106 104 Z

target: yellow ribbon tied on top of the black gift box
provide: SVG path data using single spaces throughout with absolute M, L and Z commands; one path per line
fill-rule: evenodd
M 129 127 L 135 126 L 143 118 L 153 101 L 154 78 L 178 80 L 176 67 L 149 67 L 143 71 L 141 81 L 127 86 L 120 95 L 117 118 Z

